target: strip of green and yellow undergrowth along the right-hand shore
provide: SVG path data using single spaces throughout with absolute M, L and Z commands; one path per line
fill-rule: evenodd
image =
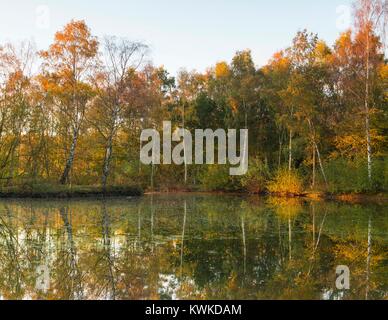
M 324 199 L 386 198 L 388 193 L 388 161 L 375 160 L 375 174 L 368 178 L 364 161 L 331 160 L 314 175 L 311 168 L 271 168 L 260 159 L 251 159 L 249 170 L 241 177 L 230 176 L 228 166 L 208 166 L 198 186 L 201 191 L 242 192 L 280 197 Z M 315 177 L 315 178 L 314 178 Z

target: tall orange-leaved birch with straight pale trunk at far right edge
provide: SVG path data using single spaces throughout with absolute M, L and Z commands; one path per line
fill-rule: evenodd
M 355 27 L 343 33 L 333 52 L 332 77 L 337 100 L 333 108 L 336 153 L 350 159 L 366 158 L 369 187 L 373 158 L 384 143 L 384 30 L 387 2 L 360 0 Z M 384 121 L 383 121 L 384 122 Z

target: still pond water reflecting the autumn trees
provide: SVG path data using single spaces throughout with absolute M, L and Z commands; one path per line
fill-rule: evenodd
M 0 299 L 387 299 L 387 245 L 386 204 L 7 200 Z

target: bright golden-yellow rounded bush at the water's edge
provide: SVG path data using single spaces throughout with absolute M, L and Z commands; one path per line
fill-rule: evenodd
M 300 195 L 303 193 L 303 179 L 297 171 L 282 168 L 276 172 L 268 185 L 268 190 L 280 195 Z

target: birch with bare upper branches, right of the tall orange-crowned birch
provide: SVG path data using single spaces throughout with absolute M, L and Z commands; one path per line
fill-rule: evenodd
M 132 106 L 133 79 L 143 61 L 147 46 L 110 37 L 105 39 L 104 49 L 105 64 L 94 82 L 97 96 L 90 120 L 104 139 L 102 186 L 105 190 L 110 174 L 114 139 L 124 123 L 126 114 L 129 113 L 128 108 Z

